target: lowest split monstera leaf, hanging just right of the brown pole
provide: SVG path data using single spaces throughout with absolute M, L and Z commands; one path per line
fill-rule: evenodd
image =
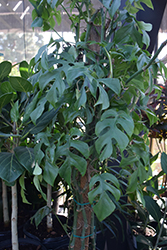
M 91 204 L 97 202 L 93 206 L 93 210 L 97 218 L 102 221 L 115 210 L 115 204 L 109 198 L 107 191 L 118 200 L 121 194 L 119 182 L 117 178 L 110 173 L 94 175 L 91 178 L 89 189 L 91 190 L 88 193 L 89 201 Z

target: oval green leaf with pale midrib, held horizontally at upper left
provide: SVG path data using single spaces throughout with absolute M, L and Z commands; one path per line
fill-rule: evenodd
M 19 92 L 29 92 L 33 89 L 31 83 L 23 77 L 10 76 L 9 78 L 12 87 Z

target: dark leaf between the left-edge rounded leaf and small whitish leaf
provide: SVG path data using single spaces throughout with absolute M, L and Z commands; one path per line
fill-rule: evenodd
M 32 174 L 34 170 L 35 159 L 34 149 L 28 147 L 16 147 L 14 152 L 21 165 L 23 165 L 24 168 Z

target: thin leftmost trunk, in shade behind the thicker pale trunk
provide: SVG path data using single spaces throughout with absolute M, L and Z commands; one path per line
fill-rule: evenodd
M 3 205 L 3 221 L 4 226 L 9 226 L 9 209 L 8 209 L 8 195 L 7 195 L 7 186 L 2 180 L 2 205 Z

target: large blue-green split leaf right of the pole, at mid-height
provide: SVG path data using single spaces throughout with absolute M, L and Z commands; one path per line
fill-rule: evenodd
M 120 150 L 124 150 L 129 139 L 125 132 L 131 136 L 134 124 L 131 116 L 124 111 L 116 112 L 109 109 L 103 113 L 101 121 L 96 124 L 95 132 L 98 139 L 95 142 L 100 160 L 109 158 L 113 152 L 113 139 L 117 141 Z M 124 132 L 125 131 L 125 132 Z

